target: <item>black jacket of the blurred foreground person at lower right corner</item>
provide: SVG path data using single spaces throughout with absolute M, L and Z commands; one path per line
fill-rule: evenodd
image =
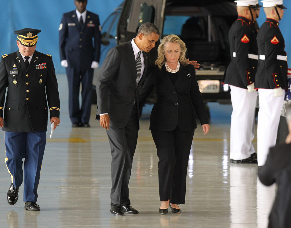
M 291 144 L 270 148 L 265 165 L 259 169 L 259 179 L 267 186 L 278 185 L 268 227 L 291 227 Z

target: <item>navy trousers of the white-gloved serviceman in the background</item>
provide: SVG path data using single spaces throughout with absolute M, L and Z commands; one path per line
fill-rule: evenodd
M 92 81 L 94 69 L 66 68 L 69 84 L 69 114 L 72 123 L 89 123 L 92 104 Z M 80 109 L 79 93 L 82 83 L 82 105 Z

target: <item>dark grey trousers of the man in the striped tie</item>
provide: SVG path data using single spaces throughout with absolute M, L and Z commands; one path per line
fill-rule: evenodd
M 111 149 L 111 202 L 122 206 L 130 204 L 128 183 L 132 168 L 132 158 L 135 152 L 139 132 L 138 113 L 136 106 L 125 127 L 109 126 L 107 135 Z

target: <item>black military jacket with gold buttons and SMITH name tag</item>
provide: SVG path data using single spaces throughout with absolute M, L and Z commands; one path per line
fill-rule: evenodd
M 0 117 L 3 131 L 46 131 L 50 117 L 60 117 L 55 68 L 50 55 L 35 51 L 28 68 L 19 51 L 2 55 L 0 62 Z

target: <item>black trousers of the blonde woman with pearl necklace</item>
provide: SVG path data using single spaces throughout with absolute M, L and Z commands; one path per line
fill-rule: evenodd
M 160 200 L 185 203 L 186 179 L 193 131 L 153 131 L 152 138 L 159 157 Z

